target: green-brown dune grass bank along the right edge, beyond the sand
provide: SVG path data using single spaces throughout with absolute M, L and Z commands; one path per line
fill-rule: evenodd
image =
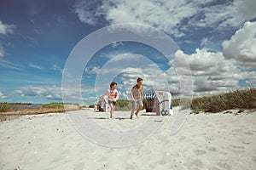
M 195 98 L 192 100 L 191 109 L 194 112 L 212 113 L 230 109 L 238 109 L 240 112 L 256 109 L 256 89 L 248 88 L 226 94 Z

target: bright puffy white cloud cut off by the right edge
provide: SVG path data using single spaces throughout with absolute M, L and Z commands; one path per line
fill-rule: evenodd
M 230 40 L 222 43 L 226 59 L 236 59 L 247 69 L 256 67 L 256 22 L 247 21 Z

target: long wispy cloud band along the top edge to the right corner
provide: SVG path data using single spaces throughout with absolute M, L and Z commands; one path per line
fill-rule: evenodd
M 79 1 L 75 14 L 86 24 L 138 23 L 154 26 L 175 37 L 183 37 L 192 27 L 224 30 L 256 18 L 254 0 L 216 3 L 212 0 L 110 0 Z

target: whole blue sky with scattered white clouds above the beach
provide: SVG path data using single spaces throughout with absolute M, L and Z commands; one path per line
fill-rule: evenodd
M 255 8 L 253 0 L 3 0 L 0 102 L 60 102 L 62 73 L 73 48 L 104 26 L 124 23 L 163 31 L 177 51 L 166 59 L 140 42 L 102 47 L 84 65 L 84 103 L 93 103 L 111 81 L 118 82 L 121 98 L 129 99 L 136 77 L 144 78 L 145 93 L 170 90 L 175 97 L 182 95 L 181 77 L 192 77 L 194 96 L 255 86 Z M 189 68 L 179 65 L 180 59 Z

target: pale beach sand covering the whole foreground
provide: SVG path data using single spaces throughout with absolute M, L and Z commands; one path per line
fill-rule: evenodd
M 174 113 L 177 112 L 176 108 Z M 105 113 L 83 110 L 20 116 L 0 122 L 0 169 L 256 169 L 255 112 L 238 115 L 237 111 L 198 115 L 185 112 L 186 121 L 174 135 L 170 127 L 176 115 L 129 120 L 129 112 L 117 111 L 110 120 Z M 83 123 L 76 127 L 77 122 L 70 121 L 70 116 L 76 115 L 80 115 L 78 122 L 84 119 L 95 122 L 101 127 L 99 131 L 127 133 L 138 129 L 140 133 L 136 137 L 126 135 L 129 146 L 108 146 L 126 144 L 119 136 L 115 143 L 106 140 L 106 144 L 96 144 L 81 135 L 79 128 L 83 128 Z M 140 131 L 147 123 L 158 128 L 154 132 Z M 91 130 L 95 136 L 100 134 Z M 143 133 L 150 135 L 145 139 Z

